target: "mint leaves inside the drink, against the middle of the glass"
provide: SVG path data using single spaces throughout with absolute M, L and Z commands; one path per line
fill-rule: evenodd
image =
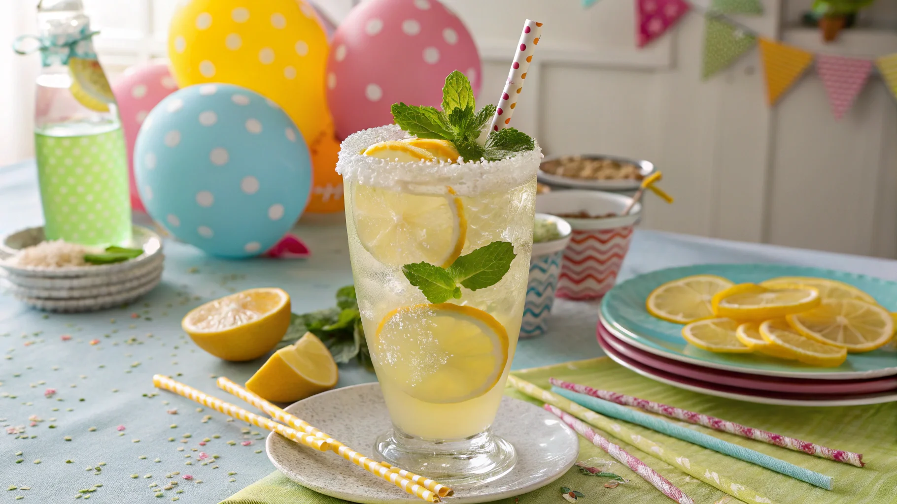
M 445 303 L 449 299 L 461 299 L 461 284 L 472 291 L 499 283 L 510 269 L 517 254 L 509 242 L 492 242 L 462 255 L 448 268 L 440 268 L 429 262 L 405 264 L 402 272 L 411 285 L 421 289 L 430 303 Z

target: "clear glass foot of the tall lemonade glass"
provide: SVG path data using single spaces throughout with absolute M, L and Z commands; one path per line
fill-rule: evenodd
M 490 430 L 463 440 L 426 440 L 393 426 L 379 435 L 374 451 L 393 466 L 453 489 L 492 482 L 517 463 L 514 447 Z

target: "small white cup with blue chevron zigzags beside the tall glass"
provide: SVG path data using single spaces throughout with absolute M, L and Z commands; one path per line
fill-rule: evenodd
M 557 290 L 558 277 L 561 275 L 563 251 L 567 248 L 567 243 L 570 243 L 571 229 L 566 220 L 547 214 L 536 214 L 536 219 L 553 222 L 561 237 L 533 243 L 533 254 L 529 260 L 527 303 L 523 309 L 520 337 L 540 336 L 548 329 L 554 291 Z

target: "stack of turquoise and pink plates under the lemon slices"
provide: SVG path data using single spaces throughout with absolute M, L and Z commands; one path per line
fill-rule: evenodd
M 777 264 L 710 264 L 661 269 L 615 286 L 601 303 L 598 343 L 617 363 L 652 380 L 711 396 L 792 406 L 849 406 L 897 401 L 897 347 L 849 354 L 835 368 L 812 367 L 755 354 L 714 354 L 689 345 L 683 326 L 645 309 L 652 290 L 690 275 L 760 282 L 773 277 L 821 277 L 857 286 L 897 312 L 897 283 L 830 269 Z

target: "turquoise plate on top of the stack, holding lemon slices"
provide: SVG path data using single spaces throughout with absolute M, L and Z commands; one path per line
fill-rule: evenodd
M 857 286 L 887 310 L 897 312 L 897 282 L 881 278 L 786 264 L 701 264 L 652 271 L 614 286 L 601 302 L 601 321 L 614 336 L 632 346 L 710 368 L 817 380 L 858 380 L 897 374 L 897 351 L 893 343 L 872 352 L 849 354 L 847 361 L 836 368 L 812 367 L 761 355 L 714 354 L 689 345 L 681 336 L 683 326 L 652 316 L 645 309 L 645 300 L 661 284 L 691 275 L 718 275 L 736 284 L 773 277 L 832 278 Z

